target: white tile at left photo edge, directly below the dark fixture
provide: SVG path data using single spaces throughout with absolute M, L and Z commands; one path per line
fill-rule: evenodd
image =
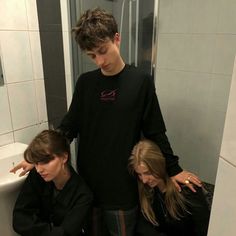
M 10 106 L 6 86 L 0 86 L 0 134 L 12 131 Z

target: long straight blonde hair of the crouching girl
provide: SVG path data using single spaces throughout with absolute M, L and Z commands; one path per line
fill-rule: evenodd
M 161 178 L 166 185 L 164 203 L 169 215 L 179 219 L 187 212 L 186 200 L 178 192 L 171 178 L 166 172 L 165 158 L 160 148 L 150 140 L 138 142 L 129 158 L 129 170 L 135 173 L 135 168 L 140 164 L 145 165 L 154 177 Z M 154 225 L 159 225 L 152 209 L 154 191 L 147 184 L 138 179 L 139 200 L 144 217 Z

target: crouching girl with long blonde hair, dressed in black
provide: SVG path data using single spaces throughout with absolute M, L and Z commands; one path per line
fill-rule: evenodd
M 179 192 L 166 173 L 159 147 L 149 140 L 134 146 L 129 169 L 138 177 L 142 215 L 137 235 L 206 236 L 209 208 L 201 187 Z M 189 176 L 191 178 L 191 176 Z M 185 181 L 190 184 L 189 179 Z

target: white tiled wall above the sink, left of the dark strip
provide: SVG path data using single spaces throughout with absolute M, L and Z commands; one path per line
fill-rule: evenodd
M 0 16 L 0 146 L 29 143 L 48 127 L 36 1 L 1 0 Z

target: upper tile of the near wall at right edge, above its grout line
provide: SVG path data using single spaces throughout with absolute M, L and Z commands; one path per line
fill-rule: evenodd
M 236 59 L 220 155 L 236 165 Z

